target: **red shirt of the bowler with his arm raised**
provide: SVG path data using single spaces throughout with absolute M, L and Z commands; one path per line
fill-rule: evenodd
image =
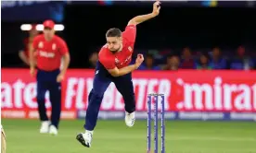
M 99 62 L 104 65 L 106 69 L 113 69 L 115 67 L 122 68 L 129 65 L 132 61 L 135 38 L 136 26 L 127 26 L 122 32 L 122 51 L 119 53 L 111 53 L 106 44 L 98 53 Z

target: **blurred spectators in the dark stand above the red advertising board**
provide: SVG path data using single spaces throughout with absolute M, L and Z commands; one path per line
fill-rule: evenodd
M 23 47 L 20 49 L 19 58 L 25 65 L 29 65 L 28 52 L 32 45 L 32 39 L 39 32 L 35 25 L 29 31 L 29 37 L 23 41 Z M 137 52 L 137 51 L 136 51 Z M 145 54 L 145 61 L 139 67 L 140 70 L 177 70 L 177 69 L 237 69 L 250 70 L 256 69 L 256 58 L 249 55 L 243 46 L 237 47 L 237 51 L 231 51 L 232 54 L 224 55 L 222 49 L 215 47 L 210 52 L 195 52 L 189 47 L 184 48 L 179 53 L 167 52 L 163 60 L 156 62 L 156 55 Z M 251 53 L 251 52 L 250 52 Z M 134 53 L 135 55 L 136 53 Z M 135 57 L 134 57 L 135 59 Z M 133 60 L 134 60 L 133 59 Z M 86 68 L 95 68 L 97 61 L 97 52 L 89 57 L 90 66 Z

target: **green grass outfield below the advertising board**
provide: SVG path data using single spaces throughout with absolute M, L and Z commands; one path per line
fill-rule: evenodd
M 79 144 L 83 120 L 62 121 L 58 136 L 39 134 L 35 120 L 2 120 L 6 153 L 146 153 L 147 123 L 99 121 L 92 147 Z M 152 151 L 153 152 L 153 151 Z M 160 152 L 160 151 L 159 151 Z M 166 122 L 166 153 L 256 153 L 256 123 Z

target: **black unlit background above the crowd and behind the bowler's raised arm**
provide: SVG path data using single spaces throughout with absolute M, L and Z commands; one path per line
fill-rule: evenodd
M 105 43 L 109 28 L 124 29 L 130 18 L 147 14 L 146 6 L 65 6 L 58 35 L 68 43 L 70 67 L 86 67 L 90 53 Z M 137 27 L 135 48 L 192 49 L 220 46 L 232 50 L 243 44 L 255 47 L 256 11 L 254 8 L 203 8 L 162 6 L 160 16 Z M 34 21 L 33 21 L 34 22 Z M 42 22 L 42 20 L 38 20 Z M 26 33 L 19 29 L 22 22 L 2 22 L 2 66 L 17 66 L 18 51 Z

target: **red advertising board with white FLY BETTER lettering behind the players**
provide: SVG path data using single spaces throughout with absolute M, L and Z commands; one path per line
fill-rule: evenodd
M 62 82 L 62 118 L 83 118 L 94 70 L 71 69 Z M 135 71 L 138 119 L 147 118 L 147 94 L 164 94 L 170 120 L 256 120 L 256 71 Z M 35 78 L 28 69 L 2 69 L 2 117 L 36 118 Z M 45 105 L 50 112 L 49 93 Z M 99 118 L 123 117 L 122 95 L 111 83 Z M 146 115 L 146 116 L 145 116 Z

